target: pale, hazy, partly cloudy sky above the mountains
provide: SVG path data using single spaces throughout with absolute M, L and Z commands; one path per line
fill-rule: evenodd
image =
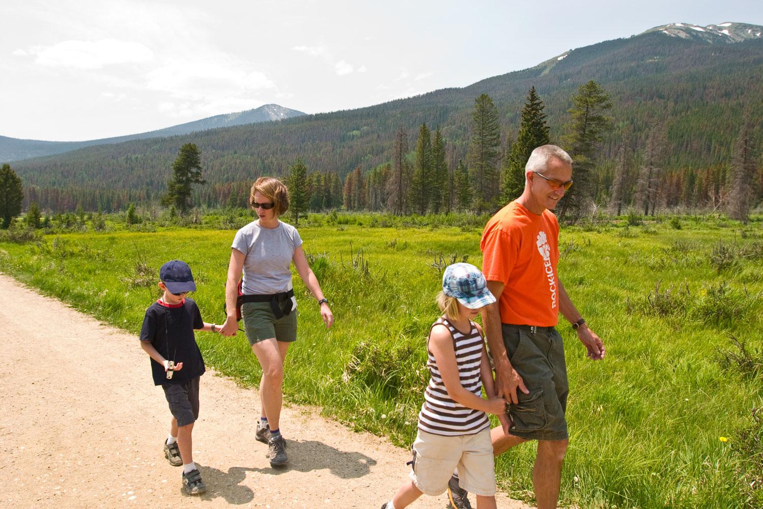
M 0 135 L 89 140 L 276 103 L 378 104 L 763 2 L 5 0 Z

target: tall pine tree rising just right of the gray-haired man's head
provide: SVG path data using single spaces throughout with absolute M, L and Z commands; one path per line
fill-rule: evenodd
M 575 185 L 562 198 L 562 210 L 559 213 L 562 217 L 568 210 L 579 214 L 584 205 L 595 198 L 594 168 L 597 151 L 601 138 L 612 127 L 612 118 L 605 115 L 612 108 L 612 103 L 607 92 L 597 82 L 580 85 L 578 93 L 571 100 L 572 108 L 568 109 L 571 121 L 564 142 L 565 149 L 572 157 Z

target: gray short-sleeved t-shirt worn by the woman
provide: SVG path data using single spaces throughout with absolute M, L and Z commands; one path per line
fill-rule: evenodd
M 264 228 L 252 221 L 236 232 L 231 247 L 246 255 L 242 291 L 245 295 L 271 295 L 291 289 L 291 259 L 302 245 L 297 229 L 278 221 Z

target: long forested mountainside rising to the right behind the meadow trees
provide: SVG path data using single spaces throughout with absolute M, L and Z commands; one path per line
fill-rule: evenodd
M 204 205 L 221 205 L 230 201 L 231 189 L 240 191 L 257 176 L 283 175 L 298 158 L 308 174 L 336 174 L 341 182 L 356 168 L 365 175 L 391 161 L 399 127 L 407 130 L 412 152 L 419 126 L 427 123 L 432 130 L 440 127 L 452 172 L 459 159 L 466 159 L 478 95 L 491 96 L 501 139 L 513 139 L 525 97 L 534 86 L 545 105 L 551 142 L 557 143 L 569 121 L 571 95 L 589 80 L 603 86 L 613 104 L 608 112 L 613 130 L 604 138 L 597 164 L 597 198 L 607 199 L 621 145 L 636 165 L 649 130 L 657 124 L 666 137 L 661 163 L 665 182 L 680 176 L 681 182 L 671 180 L 670 185 L 682 188 L 687 179 L 701 180 L 708 172 L 725 182 L 743 108 L 749 108 L 753 119 L 763 115 L 763 39 L 718 43 L 648 31 L 571 50 L 531 69 L 463 89 L 278 123 L 89 147 L 13 167 L 24 181 L 27 201 L 59 211 L 77 205 L 108 211 L 130 201 L 156 201 L 179 147 L 192 142 L 201 150 L 208 182 L 197 198 Z M 753 122 L 751 139 L 753 153 L 760 154 L 759 122 Z

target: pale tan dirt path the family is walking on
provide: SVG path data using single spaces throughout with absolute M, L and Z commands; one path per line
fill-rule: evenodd
M 208 491 L 188 497 L 162 454 L 169 411 L 137 337 L 2 274 L 0 324 L 0 507 L 375 508 L 407 475 L 405 449 L 301 407 L 282 415 L 288 469 L 271 469 L 253 440 L 256 391 L 207 372 L 194 456 Z M 499 495 L 498 507 L 527 506 Z

